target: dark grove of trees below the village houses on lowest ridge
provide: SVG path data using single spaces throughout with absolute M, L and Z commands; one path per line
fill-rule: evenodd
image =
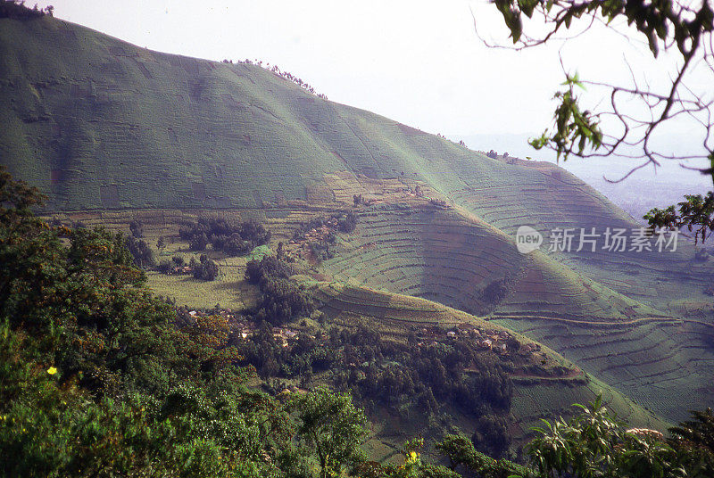
M 511 406 L 511 380 L 494 352 L 471 341 L 425 347 L 386 341 L 365 328 L 332 327 L 316 336 L 299 332 L 285 343 L 262 326 L 231 343 L 265 379 L 299 378 L 307 387 L 314 375 L 330 371 L 329 383 L 368 409 L 379 404 L 409 417 L 441 416 L 443 406 L 455 407 L 476 419 L 479 449 L 501 456 L 511 444 L 502 417 Z

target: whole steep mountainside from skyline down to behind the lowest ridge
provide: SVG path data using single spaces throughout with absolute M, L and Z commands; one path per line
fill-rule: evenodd
M 0 20 L 0 120 L 3 164 L 49 194 L 48 212 L 115 227 L 148 218 L 175 235 L 199 210 L 288 230 L 353 208 L 356 234 L 321 266 L 334 280 L 488 315 L 668 418 L 684 413 L 677 393 L 714 398 L 702 293 L 714 273 L 691 245 L 516 250 L 521 225 L 546 246 L 555 227 L 637 227 L 552 164 L 487 158 L 258 66 L 151 52 L 50 18 Z

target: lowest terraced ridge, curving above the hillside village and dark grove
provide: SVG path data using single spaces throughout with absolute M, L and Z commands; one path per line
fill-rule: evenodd
M 445 331 L 455 326 L 469 325 L 484 335 L 507 332 L 521 343 L 521 347 L 532 343 L 525 336 L 513 334 L 493 322 L 436 302 L 345 284 L 318 283 L 313 284 L 312 288 L 323 304 L 321 310 L 332 322 L 340 326 L 368 325 L 394 340 L 405 340 L 410 329 L 429 327 L 431 330 L 431 327 L 439 326 Z M 446 337 L 441 340 L 444 339 Z M 549 348 L 539 349 L 527 359 L 527 364 L 537 364 L 544 370 L 544 374 L 524 374 L 518 367 L 512 372 L 514 397 L 511 413 L 517 419 L 511 432 L 517 441 L 531 433 L 531 427 L 541 418 L 553 418 L 567 413 L 573 403 L 593 400 L 598 393 L 602 393 L 610 408 L 628 423 L 655 429 L 668 426 L 606 383 L 590 375 L 583 375 L 572 362 Z M 527 364 L 521 364 L 521 367 Z M 569 368 L 574 374 L 549 376 L 548 370 L 556 367 Z

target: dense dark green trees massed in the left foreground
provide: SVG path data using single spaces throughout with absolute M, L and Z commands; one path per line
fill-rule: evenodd
M 123 235 L 51 227 L 41 200 L 0 167 L 0 475 L 306 476 L 225 320 L 173 326 Z

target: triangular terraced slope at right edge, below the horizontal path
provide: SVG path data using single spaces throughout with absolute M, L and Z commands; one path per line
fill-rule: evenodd
M 547 344 L 578 367 L 660 416 L 678 422 L 682 407 L 706 408 L 714 386 L 714 328 L 683 321 L 584 326 L 529 318 L 496 321 Z

